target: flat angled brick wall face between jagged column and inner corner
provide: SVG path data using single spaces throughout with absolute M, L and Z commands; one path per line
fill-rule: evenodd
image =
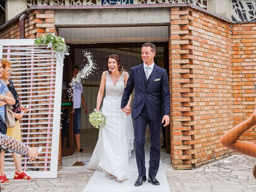
M 201 166 L 231 151 L 220 144 L 223 130 L 232 128 L 231 24 L 189 9 L 193 65 L 193 166 Z M 190 162 L 184 162 L 190 163 Z

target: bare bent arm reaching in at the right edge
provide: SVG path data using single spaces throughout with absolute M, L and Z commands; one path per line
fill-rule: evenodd
M 256 124 L 256 110 L 254 110 L 253 114 L 247 120 L 226 132 L 222 138 L 220 138 L 220 142 L 232 150 L 256 157 L 256 144 L 238 141 L 238 138 L 254 124 Z

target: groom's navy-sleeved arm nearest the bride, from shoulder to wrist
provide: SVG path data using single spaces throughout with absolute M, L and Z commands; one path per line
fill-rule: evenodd
M 128 104 L 133 88 L 134 88 L 134 71 L 133 71 L 133 68 L 131 68 L 130 75 L 128 77 L 126 87 L 124 88 L 124 94 L 122 97 L 122 102 L 121 102 L 122 109 L 124 109 Z

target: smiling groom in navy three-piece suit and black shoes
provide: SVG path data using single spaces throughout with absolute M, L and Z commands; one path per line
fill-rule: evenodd
M 126 88 L 122 97 L 121 108 L 126 108 L 130 95 L 135 89 L 132 103 L 132 118 L 134 118 L 134 142 L 136 162 L 139 176 L 134 183 L 141 186 L 146 181 L 145 167 L 145 134 L 147 124 L 150 129 L 150 160 L 148 170 L 148 182 L 159 185 L 156 174 L 160 162 L 160 131 L 161 124 L 167 126 L 170 122 L 170 91 L 166 70 L 154 64 L 156 46 L 152 43 L 144 43 L 141 50 L 143 63 L 134 66 L 130 70 Z

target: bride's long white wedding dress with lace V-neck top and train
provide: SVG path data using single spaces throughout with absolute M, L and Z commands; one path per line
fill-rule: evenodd
M 87 169 L 103 170 L 107 176 L 112 174 L 118 178 L 128 179 L 128 158 L 133 150 L 134 132 L 131 115 L 126 116 L 121 110 L 125 87 L 123 75 L 124 72 L 114 86 L 107 72 L 106 96 L 102 105 L 106 126 L 100 129 L 90 162 L 85 166 Z

